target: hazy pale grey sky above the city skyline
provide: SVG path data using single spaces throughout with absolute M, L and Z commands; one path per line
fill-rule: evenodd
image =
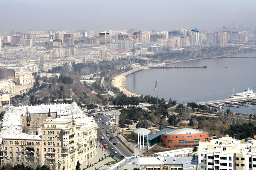
M 0 31 L 256 26 L 256 0 L 0 0 Z

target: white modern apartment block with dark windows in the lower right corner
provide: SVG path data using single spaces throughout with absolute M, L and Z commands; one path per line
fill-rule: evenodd
M 200 142 L 198 170 L 254 170 L 256 143 L 242 142 L 231 137 Z

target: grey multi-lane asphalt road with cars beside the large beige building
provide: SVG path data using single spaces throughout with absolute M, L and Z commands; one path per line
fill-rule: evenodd
M 98 116 L 96 118 L 96 116 Z M 101 119 L 100 122 L 98 122 L 99 128 L 100 130 L 102 130 L 102 135 L 104 137 L 104 140 L 101 140 L 101 136 L 98 136 L 98 141 L 102 144 L 102 146 L 104 146 L 104 144 L 108 144 L 108 149 L 106 149 L 106 152 L 104 151 L 105 148 L 103 148 L 103 154 L 107 154 L 109 155 L 110 153 L 113 153 L 115 151 L 117 151 L 117 154 L 115 155 L 115 159 L 122 160 L 123 158 L 121 158 L 121 155 L 124 155 L 124 157 L 129 157 L 132 156 L 133 154 L 115 137 L 115 133 L 113 133 L 113 130 L 110 130 L 110 125 L 105 125 L 106 121 L 110 121 L 110 117 L 108 115 L 104 116 L 104 115 L 96 115 L 95 119 Z M 104 120 L 102 120 L 104 119 Z M 104 122 L 104 124 L 102 124 L 102 122 Z M 102 129 L 102 127 L 104 127 L 104 129 Z M 107 137 L 106 131 L 109 130 L 109 137 Z M 112 141 L 110 142 L 109 139 L 110 137 L 113 137 Z M 113 145 L 113 143 L 117 143 L 117 141 L 119 142 L 119 144 Z M 110 148 L 113 147 L 114 149 L 111 150 Z M 101 154 L 101 153 L 98 153 Z

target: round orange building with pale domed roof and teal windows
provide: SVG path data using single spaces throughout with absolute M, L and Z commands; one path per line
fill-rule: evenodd
M 199 141 L 210 141 L 208 132 L 184 128 L 162 133 L 160 144 L 163 148 L 181 149 L 199 146 Z

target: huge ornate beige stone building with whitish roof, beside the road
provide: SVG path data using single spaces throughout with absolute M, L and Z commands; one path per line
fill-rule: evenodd
M 47 113 L 46 110 L 52 111 Z M 51 113 L 55 113 L 57 118 Z M 27 131 L 27 126 L 33 122 L 43 123 L 41 128 Z M 77 161 L 86 163 L 97 154 L 97 128 L 97 123 L 84 115 L 75 102 L 9 106 L 0 132 L 1 164 L 24 163 L 34 167 L 47 165 L 56 170 L 75 169 Z

